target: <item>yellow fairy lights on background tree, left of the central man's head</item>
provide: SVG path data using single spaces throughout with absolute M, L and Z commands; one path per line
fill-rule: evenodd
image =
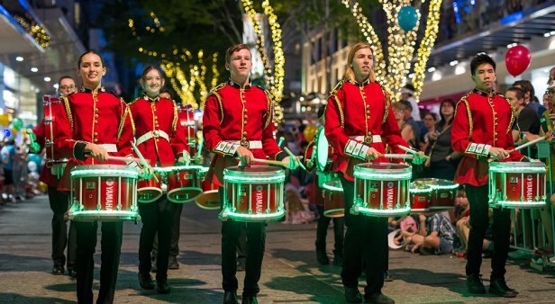
M 154 25 L 145 26 L 145 31 L 148 34 L 166 31 L 156 13 L 150 12 L 149 15 Z M 129 19 L 128 26 L 132 31 L 132 35 L 140 40 L 141 37 L 137 33 L 134 20 Z M 209 88 L 215 87 L 220 77 L 217 67 L 218 53 L 210 55 L 209 61 L 211 62 L 207 62 L 203 49 L 200 49 L 195 54 L 196 56 L 185 48 L 173 49 L 170 55 L 145 47 L 139 47 L 138 51 L 149 57 L 160 58 L 160 67 L 166 76 L 168 76 L 169 84 L 181 98 L 183 104 L 190 104 L 193 109 L 204 108 Z M 206 79 L 209 69 L 207 65 L 210 65 L 210 75 L 212 76 L 209 83 L 207 83 L 208 80 Z M 198 103 L 198 100 L 201 102 Z

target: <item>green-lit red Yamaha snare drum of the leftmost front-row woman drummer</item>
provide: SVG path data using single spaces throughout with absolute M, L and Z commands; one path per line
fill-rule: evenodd
M 138 220 L 137 178 L 127 165 L 77 165 L 71 170 L 68 219 Z

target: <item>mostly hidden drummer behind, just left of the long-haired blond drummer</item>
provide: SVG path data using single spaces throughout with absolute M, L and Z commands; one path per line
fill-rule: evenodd
M 321 107 L 318 110 L 318 120 L 320 121 L 321 127 L 323 128 L 325 119 L 324 119 L 325 108 Z M 322 135 L 323 136 L 323 135 Z M 314 153 L 316 153 L 316 139 L 314 138 L 306 148 L 306 168 L 312 169 L 314 168 L 314 161 L 311 159 L 315 159 Z M 326 147 L 328 148 L 328 147 Z M 312 154 L 312 157 L 308 156 L 308 154 Z M 317 156 L 316 156 L 317 157 Z M 331 158 L 331 155 L 328 155 L 328 158 Z M 326 159 L 327 161 L 327 159 Z M 331 172 L 323 173 L 323 174 L 332 174 Z M 319 181 L 321 175 L 319 173 L 314 174 L 313 184 L 311 185 L 311 192 L 310 192 L 310 201 L 316 204 L 316 208 L 318 210 L 318 224 L 316 225 L 316 261 L 319 264 L 330 264 L 330 259 L 326 253 L 326 235 L 328 233 L 328 226 L 330 226 L 330 221 L 332 218 L 326 217 L 323 214 L 324 205 L 323 205 L 323 195 L 322 195 L 322 187 L 319 186 Z M 344 217 L 334 217 L 333 218 L 333 236 L 334 236 L 334 249 L 333 249 L 333 264 L 342 266 L 343 265 L 343 237 L 345 231 L 345 220 Z

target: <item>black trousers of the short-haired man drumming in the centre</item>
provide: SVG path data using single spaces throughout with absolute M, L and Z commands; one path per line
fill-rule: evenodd
M 223 201 L 223 188 L 219 188 L 220 201 Z M 243 297 L 256 296 L 259 289 L 262 259 L 266 247 L 266 223 L 243 223 L 234 220 L 222 222 L 222 285 L 223 291 L 237 291 L 237 243 L 241 228 L 247 231 L 247 261 Z

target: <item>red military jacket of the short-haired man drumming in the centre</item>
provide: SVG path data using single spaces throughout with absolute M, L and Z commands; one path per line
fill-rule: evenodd
M 239 164 L 235 152 L 240 144 L 256 158 L 285 158 L 287 154 L 278 147 L 274 130 L 273 103 L 264 90 L 232 80 L 216 86 L 206 99 L 203 116 L 205 147 L 214 152 L 208 181 L 215 177 L 215 183 L 223 186 L 223 169 Z M 250 147 L 254 141 L 261 141 L 261 148 Z

